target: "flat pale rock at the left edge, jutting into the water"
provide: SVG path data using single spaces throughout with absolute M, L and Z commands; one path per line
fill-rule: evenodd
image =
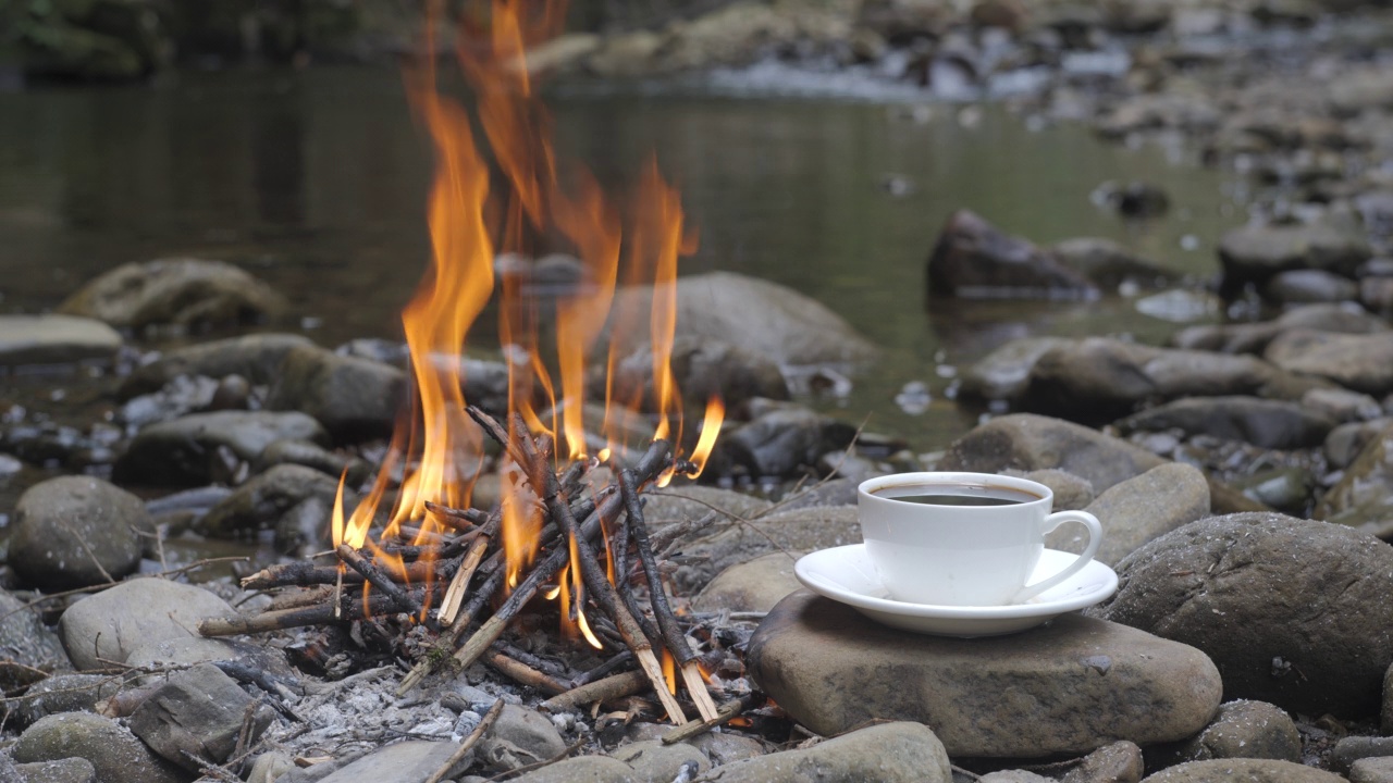
M 0 315 L 0 366 L 109 362 L 121 348 L 114 329 L 70 315 Z

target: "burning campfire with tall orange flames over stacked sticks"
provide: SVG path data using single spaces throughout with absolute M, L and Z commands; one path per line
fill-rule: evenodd
M 259 616 L 208 620 L 201 631 L 361 619 L 430 639 L 403 692 L 447 660 L 483 660 L 571 705 L 651 687 L 676 723 L 688 718 L 677 698 L 685 691 L 701 719 L 715 722 L 688 620 L 663 578 L 663 556 L 688 531 L 651 532 L 642 497 L 645 488 L 699 475 L 722 425 L 720 400 L 703 401 L 695 437 L 669 366 L 677 262 L 695 238 L 656 160 L 625 213 L 584 167 L 559 160 L 525 53 L 553 36 L 561 17 L 556 4 L 495 0 L 486 18 L 461 24 L 456 56 L 476 117 L 443 93 L 428 24 L 426 53 L 405 78 L 437 156 L 428 206 L 432 265 L 403 313 L 410 411 L 355 507 L 347 507 L 340 481 L 332 518 L 338 563 L 259 571 L 245 588 L 298 589 Z M 529 261 L 563 249 L 581 263 Z M 559 281 L 553 269 L 571 274 Z M 621 281 L 652 286 L 651 309 L 616 305 Z M 464 394 L 462 354 L 493 300 L 508 366 L 506 411 L 481 410 Z M 623 351 L 635 343 L 652 347 L 646 392 L 617 380 Z M 588 378 L 592 365 L 607 372 Z M 598 429 L 586 428 L 588 404 L 603 405 Z M 501 476 L 500 502 L 474 509 L 475 482 L 490 470 Z M 500 644 L 539 598 L 554 605 L 561 639 L 603 651 L 607 660 L 559 677 Z M 637 670 L 613 674 L 625 666 Z

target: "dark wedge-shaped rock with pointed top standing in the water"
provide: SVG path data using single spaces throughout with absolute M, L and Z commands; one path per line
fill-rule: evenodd
M 1082 274 L 968 210 L 954 212 L 943 226 L 929 255 L 928 277 L 935 297 L 1098 297 L 1098 288 Z

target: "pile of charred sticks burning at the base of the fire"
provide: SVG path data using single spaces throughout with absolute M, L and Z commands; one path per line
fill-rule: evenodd
M 338 546 L 338 564 L 298 560 L 258 571 L 242 580 L 245 589 L 316 589 L 297 591 L 256 616 L 203 620 L 199 633 L 205 637 L 256 634 L 405 613 L 437 631 L 439 638 L 404 677 L 398 694 L 414 688 L 444 660 L 460 669 L 482 660 L 514 680 L 549 692 L 553 698 L 547 705 L 553 708 L 652 688 L 669 719 L 684 723 L 687 716 L 669 691 L 663 673 L 660 656 L 666 652 L 701 720 L 719 720 L 720 713 L 698 667 L 698 655 L 663 589 L 655 556 L 681 534 L 663 529 L 649 535 L 639 497 L 639 492 L 666 471 L 684 472 L 690 465 L 674 461 L 667 442 L 655 440 L 632 467 L 612 465 L 614 481 L 610 485 L 582 497 L 582 479 L 592 463 L 577 461 L 557 474 L 552 468 L 554 442 L 550 436 L 534 436 L 521 417 L 513 417 L 511 426 L 504 428 L 479 408 L 471 407 L 468 412 L 503 446 L 546 521 L 540 532 L 542 549 L 531 570 L 501 602 L 507 571 L 499 535 L 501 507 L 485 513 L 428 503 L 428 513 L 446 532 L 422 536 L 419 529 L 403 527 L 396 542 L 380 542 L 373 552 Z M 379 552 L 400 559 L 404 567 L 383 567 L 378 561 Z M 625 649 L 616 651 L 596 670 L 560 679 L 499 639 L 568 564 L 579 568 L 585 588 L 584 600 L 573 603 L 573 613 L 578 607 L 588 610 L 600 638 Z M 610 582 L 610 571 L 616 574 L 614 582 Z M 637 571 L 642 573 L 641 580 Z M 634 589 L 634 581 L 646 584 L 646 596 Z M 371 588 L 348 589 L 361 588 L 364 582 Z M 492 614 L 475 624 L 490 609 Z M 637 663 L 635 672 L 613 674 L 630 660 Z

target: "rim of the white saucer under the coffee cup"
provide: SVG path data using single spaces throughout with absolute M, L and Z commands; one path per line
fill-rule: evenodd
M 1077 582 L 1080 580 L 1088 578 L 1092 573 L 1094 578 L 1100 578 L 1095 589 L 1080 595 L 1068 595 L 1056 600 L 1035 600 L 1032 603 L 1011 603 L 1004 606 L 947 606 L 939 603 L 914 603 L 908 600 L 896 600 L 890 598 L 875 598 L 861 592 L 853 592 L 844 585 L 833 585 L 826 581 L 818 581 L 816 577 L 808 573 L 808 568 L 814 563 L 820 560 L 829 560 L 836 557 L 846 557 L 854 550 L 864 550 L 865 543 L 847 543 L 843 546 L 833 546 L 829 549 L 819 549 L 818 552 L 809 552 L 794 563 L 794 575 L 798 581 L 812 592 L 854 606 L 857 609 L 868 609 L 871 612 L 885 612 L 889 614 L 910 616 L 910 617 L 925 617 L 925 619 L 944 619 L 944 620 L 1010 620 L 1010 619 L 1025 619 L 1025 617 L 1041 617 L 1041 616 L 1059 616 L 1066 612 L 1074 612 L 1078 609 L 1085 609 L 1106 600 L 1114 592 L 1117 592 L 1117 571 L 1114 571 L 1106 563 L 1099 563 L 1092 560 L 1077 574 L 1064 580 L 1060 585 L 1052 588 L 1049 592 L 1066 588 L 1067 585 Z M 1061 552 L 1059 549 L 1046 549 L 1046 552 L 1053 552 L 1057 555 L 1075 555 L 1073 552 Z M 1077 555 L 1075 555 L 1077 556 Z

